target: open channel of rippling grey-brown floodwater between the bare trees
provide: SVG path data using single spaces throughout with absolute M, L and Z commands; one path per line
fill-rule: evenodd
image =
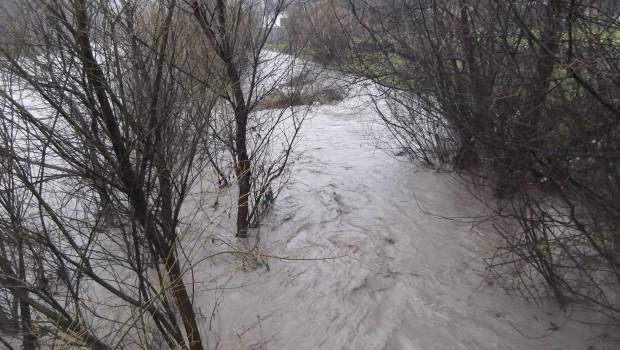
M 360 101 L 309 115 L 290 181 L 260 229 L 270 269 L 243 269 L 232 255 L 194 269 L 209 346 L 604 349 L 602 331 L 484 278 L 492 232 L 429 214 L 482 206 L 450 176 L 377 150 Z

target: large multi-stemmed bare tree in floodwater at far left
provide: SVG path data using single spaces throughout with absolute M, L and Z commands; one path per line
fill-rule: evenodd
M 24 348 L 202 349 L 180 213 L 214 97 L 183 73 L 176 2 L 20 9 L 25 44 L 0 47 L 0 317 Z

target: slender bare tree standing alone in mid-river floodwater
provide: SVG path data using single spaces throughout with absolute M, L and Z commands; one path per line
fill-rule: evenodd
M 294 108 L 294 100 L 307 87 L 293 79 L 304 69 L 296 52 L 268 50 L 276 20 L 288 6 L 277 0 L 263 6 L 251 0 L 190 1 L 210 55 L 204 64 L 212 67 L 210 89 L 222 101 L 217 139 L 230 151 L 238 184 L 236 235 L 245 238 L 248 228 L 260 220 L 272 186 L 288 162 L 305 112 Z M 282 93 L 290 109 L 261 110 L 269 96 Z M 274 187 L 275 189 L 272 189 Z

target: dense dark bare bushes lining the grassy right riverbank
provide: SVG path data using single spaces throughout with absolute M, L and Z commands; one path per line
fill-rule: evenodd
M 498 226 L 490 267 L 512 266 L 527 296 L 548 290 L 617 317 L 616 2 L 311 3 L 334 9 L 346 40 L 330 61 L 377 84 L 400 147 L 492 187 L 484 201 L 517 225 Z

